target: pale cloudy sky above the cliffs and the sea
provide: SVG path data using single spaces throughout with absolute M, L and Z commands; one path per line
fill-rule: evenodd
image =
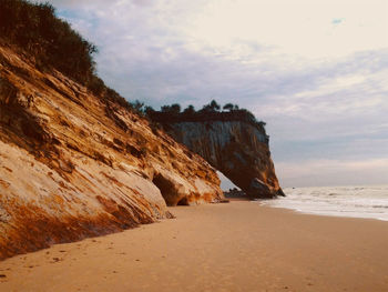
M 282 187 L 388 184 L 388 1 L 49 2 L 129 100 L 265 121 Z

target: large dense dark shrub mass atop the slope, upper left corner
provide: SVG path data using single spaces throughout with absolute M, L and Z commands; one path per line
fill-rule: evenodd
M 32 56 L 41 69 L 55 68 L 83 84 L 92 80 L 96 47 L 57 18 L 50 3 L 0 0 L 0 38 Z

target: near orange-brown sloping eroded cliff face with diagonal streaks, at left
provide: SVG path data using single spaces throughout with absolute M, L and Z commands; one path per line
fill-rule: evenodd
M 144 119 L 0 48 L 0 259 L 171 218 L 218 185 Z

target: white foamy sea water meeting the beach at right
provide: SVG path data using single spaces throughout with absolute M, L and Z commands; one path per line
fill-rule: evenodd
M 284 192 L 285 198 L 261 203 L 309 214 L 388 221 L 388 185 L 287 188 Z

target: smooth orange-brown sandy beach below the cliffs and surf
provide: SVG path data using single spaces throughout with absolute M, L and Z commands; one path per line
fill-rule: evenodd
M 0 262 L 0 291 L 388 291 L 388 222 L 232 201 Z

